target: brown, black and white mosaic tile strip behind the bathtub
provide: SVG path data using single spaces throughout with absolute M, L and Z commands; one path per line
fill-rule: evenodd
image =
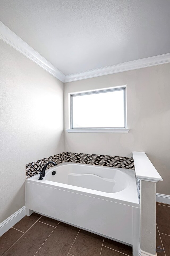
M 86 163 L 89 165 L 109 166 L 116 168 L 134 169 L 133 157 L 116 157 L 110 155 L 95 155 L 83 153 L 63 152 L 57 155 L 52 155 L 40 160 L 37 160 L 26 165 L 26 178 L 30 178 L 38 174 L 43 166 L 53 161 L 57 165 L 62 162 Z M 53 165 L 48 165 L 47 169 Z

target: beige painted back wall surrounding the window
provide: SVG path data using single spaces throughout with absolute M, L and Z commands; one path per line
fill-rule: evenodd
M 129 133 L 67 133 L 65 151 L 132 156 L 144 151 L 163 181 L 156 192 L 170 195 L 170 64 L 65 83 L 65 129 L 68 128 L 68 93 L 127 85 Z

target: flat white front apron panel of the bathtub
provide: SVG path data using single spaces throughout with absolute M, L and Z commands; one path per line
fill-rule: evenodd
M 124 243 L 133 243 L 132 206 L 26 182 L 26 207 Z

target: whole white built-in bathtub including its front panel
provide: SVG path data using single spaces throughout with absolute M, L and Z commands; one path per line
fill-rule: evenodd
M 38 179 L 26 180 L 27 215 L 35 211 L 137 246 L 140 205 L 134 170 L 62 163 Z

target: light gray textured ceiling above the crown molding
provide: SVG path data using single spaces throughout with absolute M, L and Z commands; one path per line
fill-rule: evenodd
M 170 53 L 170 0 L 0 0 L 0 20 L 66 75 Z

